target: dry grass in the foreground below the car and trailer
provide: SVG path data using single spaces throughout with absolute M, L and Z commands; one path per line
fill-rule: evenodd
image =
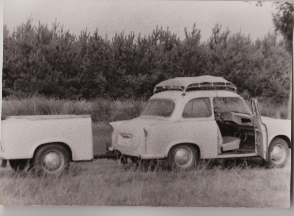
M 290 166 L 134 171 L 112 160 L 71 165 L 62 176 L 0 169 L 3 205 L 289 207 Z

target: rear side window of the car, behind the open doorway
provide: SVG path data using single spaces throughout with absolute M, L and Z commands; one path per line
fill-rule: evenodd
M 211 116 L 209 98 L 196 98 L 187 102 L 184 107 L 183 118 L 205 118 Z

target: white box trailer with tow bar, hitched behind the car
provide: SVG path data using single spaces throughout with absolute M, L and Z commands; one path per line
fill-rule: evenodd
M 37 168 L 54 174 L 71 161 L 92 161 L 90 115 L 9 116 L 1 121 L 1 166 L 14 170 Z M 95 158 L 116 158 L 117 154 Z

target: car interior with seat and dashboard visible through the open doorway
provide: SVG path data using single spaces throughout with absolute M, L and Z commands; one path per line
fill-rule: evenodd
M 242 107 L 245 105 L 238 100 L 240 99 L 213 99 L 214 116 L 219 128 L 218 154 L 255 152 L 253 119 L 248 110 Z

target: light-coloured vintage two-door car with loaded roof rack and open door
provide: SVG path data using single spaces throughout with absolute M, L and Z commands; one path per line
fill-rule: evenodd
M 166 159 L 179 169 L 240 157 L 281 168 L 291 147 L 290 120 L 262 117 L 256 99 L 247 106 L 233 83 L 209 75 L 157 84 L 138 118 L 110 125 L 110 150 L 132 161 Z

